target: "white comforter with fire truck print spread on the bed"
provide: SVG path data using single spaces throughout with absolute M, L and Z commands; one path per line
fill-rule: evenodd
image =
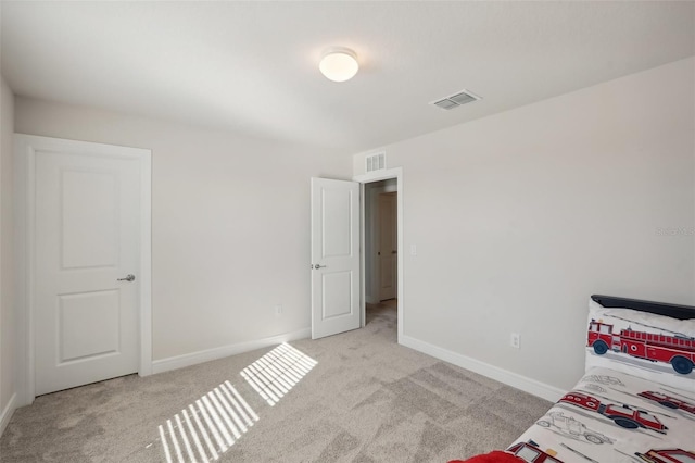
M 527 462 L 695 462 L 695 390 L 594 367 L 508 452 Z

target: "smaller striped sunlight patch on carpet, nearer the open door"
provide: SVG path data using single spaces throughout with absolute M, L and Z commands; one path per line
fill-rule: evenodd
M 241 371 L 241 376 L 273 406 L 317 365 L 311 356 L 287 342 Z

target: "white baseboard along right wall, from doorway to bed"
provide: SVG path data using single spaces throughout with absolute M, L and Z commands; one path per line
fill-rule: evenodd
M 563 389 L 548 386 L 535 379 L 528 378 L 526 376 L 521 376 L 517 373 L 511 373 L 506 370 L 502 370 L 489 363 L 471 359 L 470 356 L 462 355 L 460 353 L 452 352 L 451 350 L 412 338 L 409 336 L 402 336 L 401 343 L 405 347 L 409 347 L 410 349 L 415 349 L 419 352 L 431 355 L 435 359 L 453 363 L 454 365 L 460 366 L 462 368 L 470 370 L 471 372 L 504 383 L 525 392 L 529 392 L 542 399 L 549 400 L 551 402 L 557 402 L 557 400 L 565 396 L 565 393 L 567 392 Z

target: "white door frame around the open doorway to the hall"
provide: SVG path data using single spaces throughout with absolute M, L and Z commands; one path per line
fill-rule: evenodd
M 366 233 L 366 221 L 365 221 L 365 184 L 371 184 L 374 182 L 388 180 L 391 178 L 396 179 L 396 226 L 397 226 L 397 236 L 399 236 L 399 253 L 397 253 L 397 270 L 399 270 L 399 290 L 397 290 L 397 342 L 402 343 L 403 339 L 403 318 L 405 313 L 405 298 L 403 297 L 403 167 L 392 167 L 384 168 L 380 171 L 368 172 L 362 175 L 353 176 L 354 182 L 359 183 L 359 221 L 361 221 L 361 232 L 359 232 L 359 271 L 362 275 L 361 278 L 361 326 L 364 328 L 366 325 L 366 308 L 367 308 L 367 295 L 366 295 L 366 281 L 365 281 L 365 233 Z

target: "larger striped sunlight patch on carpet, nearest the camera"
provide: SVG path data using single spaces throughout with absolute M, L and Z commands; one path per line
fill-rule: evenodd
M 257 421 L 243 397 L 225 381 L 160 425 L 166 461 L 218 460 Z

